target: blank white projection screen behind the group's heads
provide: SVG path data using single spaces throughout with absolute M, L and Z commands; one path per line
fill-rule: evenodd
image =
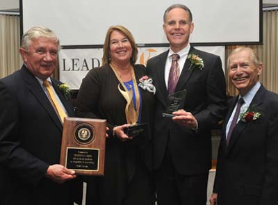
M 129 28 L 138 44 L 163 44 L 168 42 L 162 29 L 165 9 L 173 3 L 185 3 L 195 25 L 190 42 L 237 45 L 262 38 L 262 1 L 22 0 L 21 14 L 24 32 L 33 26 L 47 26 L 63 45 L 103 44 L 107 29 L 119 24 Z

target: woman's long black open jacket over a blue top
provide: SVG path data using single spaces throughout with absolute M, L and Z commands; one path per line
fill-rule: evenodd
M 135 65 L 134 72 L 137 81 L 142 76 L 147 75 L 146 69 L 142 65 Z M 141 123 L 147 123 L 148 129 L 133 140 L 122 142 L 113 137 L 111 133 L 114 126 L 126 124 L 124 112 L 126 99 L 118 90 L 119 83 L 109 65 L 91 69 L 83 79 L 76 102 L 77 116 L 106 119 L 107 126 L 110 128 L 109 138 L 106 138 L 104 177 L 97 179 L 100 181 L 97 192 L 105 193 L 105 199 L 101 199 L 102 204 L 108 202 L 110 204 L 122 204 L 123 197 L 126 195 L 127 184 L 133 178 L 134 173 L 141 170 L 142 165 L 148 167 L 149 174 L 142 176 L 142 180 L 144 180 L 149 178 L 152 170 L 151 136 L 155 97 L 151 92 L 140 88 L 142 97 Z M 88 195 L 93 195 L 94 191 L 91 191 L 90 184 L 88 183 Z M 139 185 L 137 184 L 137 186 Z M 132 187 L 129 186 L 129 188 Z

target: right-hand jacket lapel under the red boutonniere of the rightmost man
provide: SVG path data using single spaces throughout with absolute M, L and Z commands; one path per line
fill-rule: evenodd
M 258 90 L 258 92 L 256 92 L 256 95 L 252 99 L 250 108 L 256 108 L 256 110 L 255 110 L 256 112 L 260 111 L 259 107 L 261 106 L 261 104 L 263 104 L 262 99 L 263 99 L 264 93 L 265 93 L 265 88 L 263 88 L 263 85 L 261 85 L 261 88 Z M 229 151 L 231 151 L 236 140 L 238 140 L 238 138 L 240 137 L 240 133 L 242 133 L 243 130 L 247 129 L 247 127 L 250 123 L 252 123 L 252 122 L 243 122 L 242 120 L 240 120 L 238 122 L 238 124 L 236 124 L 233 132 L 231 133 L 231 139 L 230 139 L 229 145 L 227 147 L 227 154 L 229 153 Z

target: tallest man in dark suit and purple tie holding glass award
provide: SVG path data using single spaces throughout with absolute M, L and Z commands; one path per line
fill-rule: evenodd
M 163 29 L 170 49 L 147 63 L 156 86 L 153 151 L 160 205 L 206 204 L 211 129 L 227 110 L 220 57 L 190 46 L 193 28 L 192 14 L 186 6 L 174 4 L 167 8 Z M 179 55 L 176 64 L 173 54 Z M 174 88 L 170 80 L 172 67 L 179 67 Z M 163 117 L 168 95 L 185 89 L 183 109 L 174 112 L 173 118 Z

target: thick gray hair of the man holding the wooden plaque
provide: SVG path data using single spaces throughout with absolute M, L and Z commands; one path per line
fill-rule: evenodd
M 22 48 L 24 50 L 28 50 L 31 41 L 35 38 L 52 38 L 56 40 L 58 50 L 60 50 L 60 40 L 58 39 L 56 33 L 52 31 L 49 28 L 46 28 L 44 26 L 34 26 L 33 28 L 30 28 L 24 35 L 22 36 Z

